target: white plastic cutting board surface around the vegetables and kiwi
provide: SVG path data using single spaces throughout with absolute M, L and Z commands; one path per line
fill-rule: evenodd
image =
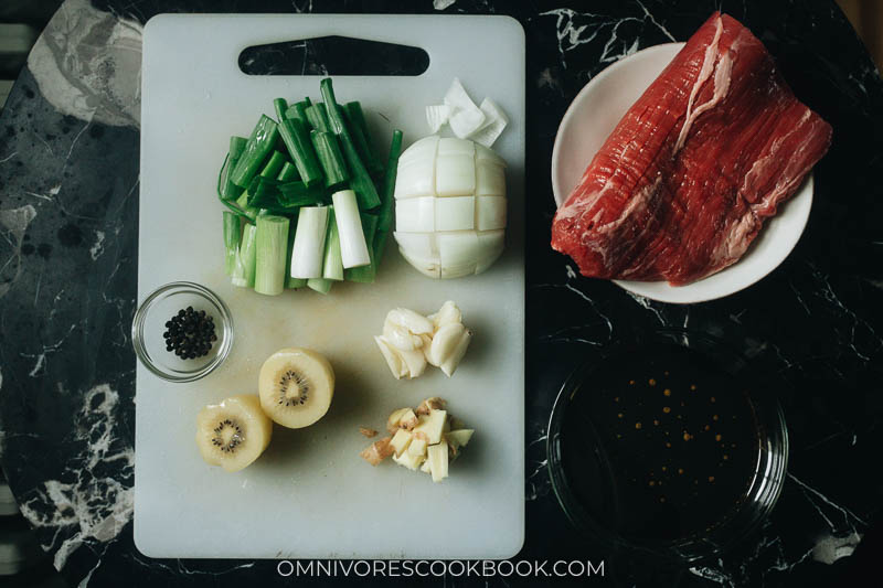
M 507 160 L 509 245 L 481 276 L 432 280 L 391 240 L 377 282 L 265 297 L 223 270 L 217 168 L 230 135 L 247 136 L 273 98 L 319 97 L 317 76 L 243 74 L 255 44 L 325 35 L 426 50 L 417 77 L 336 76 L 341 101 L 362 103 L 379 153 L 393 127 L 405 145 L 427 133 L 424 106 L 458 76 L 511 122 L 494 149 Z M 386 122 L 385 119 L 389 119 Z M 383 146 L 382 149 L 380 146 Z M 385 154 L 383 156 L 385 158 Z M 524 536 L 524 33 L 504 17 L 160 15 L 145 28 L 138 298 L 191 280 L 230 307 L 235 342 L 208 377 L 171 384 L 137 371 L 135 542 L 155 557 L 501 558 Z M 457 301 L 475 338 L 453 378 L 430 368 L 396 382 L 377 351 L 386 311 L 429 313 Z M 312 427 L 276 427 L 266 453 L 237 473 L 206 466 L 194 445 L 208 403 L 257 392 L 264 359 L 308 346 L 334 366 L 331 409 Z M 444 483 L 359 457 L 386 416 L 427 396 L 476 429 Z

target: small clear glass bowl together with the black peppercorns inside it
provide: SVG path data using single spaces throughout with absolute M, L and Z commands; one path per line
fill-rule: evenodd
M 210 289 L 175 281 L 160 286 L 141 302 L 131 340 L 150 372 L 169 382 L 193 382 L 226 359 L 233 346 L 233 319 Z

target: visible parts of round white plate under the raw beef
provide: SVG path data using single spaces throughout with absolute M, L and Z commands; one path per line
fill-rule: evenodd
M 674 58 L 683 43 L 639 51 L 610 65 L 576 95 L 561 120 L 552 150 L 552 190 L 561 206 L 586 165 L 635 100 Z M 688 286 L 666 281 L 614 280 L 626 290 L 661 302 L 687 304 L 723 298 L 756 282 L 788 257 L 809 218 L 812 175 L 773 218 L 737 263 Z

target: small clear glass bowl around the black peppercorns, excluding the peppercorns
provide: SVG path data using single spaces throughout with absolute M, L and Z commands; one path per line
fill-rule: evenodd
M 193 307 L 214 318 L 214 341 L 208 355 L 182 360 L 166 350 L 166 322 L 179 310 Z M 145 367 L 169 382 L 193 382 L 210 374 L 230 354 L 233 346 L 233 317 L 224 302 L 210 289 L 191 281 L 173 281 L 153 290 L 138 310 L 131 324 L 135 354 Z

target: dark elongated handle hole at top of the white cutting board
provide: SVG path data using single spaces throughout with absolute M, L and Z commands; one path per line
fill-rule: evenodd
M 429 67 L 419 47 L 349 36 L 251 45 L 240 53 L 247 75 L 418 76 Z

